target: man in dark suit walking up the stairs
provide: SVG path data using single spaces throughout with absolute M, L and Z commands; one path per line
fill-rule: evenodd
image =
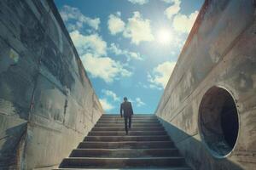
M 125 132 L 126 135 L 128 134 L 128 127 L 127 127 L 127 120 L 129 119 L 129 128 L 131 128 L 131 116 L 133 115 L 131 102 L 125 97 L 124 102 L 120 105 L 120 115 L 123 117 L 124 111 L 124 118 L 125 118 Z

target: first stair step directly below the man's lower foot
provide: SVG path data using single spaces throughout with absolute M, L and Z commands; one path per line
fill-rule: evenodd
M 167 135 L 158 136 L 87 136 L 84 141 L 102 141 L 102 142 L 119 142 L 119 141 L 167 141 L 170 140 Z

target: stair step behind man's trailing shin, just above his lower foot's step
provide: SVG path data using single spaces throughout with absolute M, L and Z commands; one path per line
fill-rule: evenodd
M 129 132 L 132 131 L 164 131 L 164 127 L 132 127 Z M 91 131 L 125 131 L 125 127 L 93 127 Z

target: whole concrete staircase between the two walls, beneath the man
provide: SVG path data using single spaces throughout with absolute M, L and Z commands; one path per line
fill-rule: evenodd
M 125 135 L 124 120 L 103 115 L 58 169 L 191 170 L 156 116 L 136 115 Z

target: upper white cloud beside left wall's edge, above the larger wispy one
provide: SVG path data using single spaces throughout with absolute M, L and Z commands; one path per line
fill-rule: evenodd
M 70 37 L 73 40 L 75 47 L 78 49 L 79 54 L 90 53 L 94 55 L 107 54 L 107 42 L 102 40 L 98 34 L 91 34 L 84 36 L 79 31 L 70 32 Z

